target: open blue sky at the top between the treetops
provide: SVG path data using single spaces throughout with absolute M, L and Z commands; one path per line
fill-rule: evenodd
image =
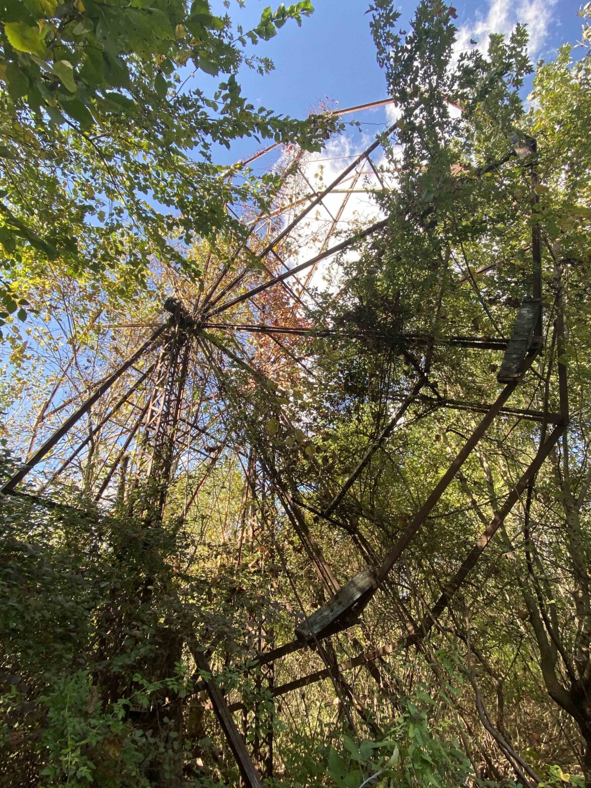
M 337 101 L 340 107 L 385 98 L 384 75 L 377 66 L 370 36 L 369 0 L 312 0 L 314 13 L 299 28 L 285 24 L 278 35 L 257 47 L 258 54 L 273 60 L 275 70 L 258 76 L 243 69 L 243 93 L 255 106 L 266 106 L 292 117 L 305 117 L 321 99 Z M 212 3 L 215 7 L 216 2 Z M 220 3 L 221 5 L 221 3 Z M 269 0 L 246 0 L 240 9 L 232 3 L 230 13 L 245 30 L 255 26 Z M 277 0 L 271 3 L 278 5 Z M 288 0 L 286 0 L 288 5 Z M 398 4 L 400 24 L 406 27 L 415 3 Z M 532 37 L 534 59 L 551 58 L 556 48 L 580 39 L 581 20 L 577 0 L 478 0 L 455 3 L 459 40 L 486 39 L 489 32 L 509 32 L 517 21 L 526 21 Z M 355 116 L 372 134 L 384 128 L 385 110 Z M 220 151 L 219 163 L 234 162 L 256 151 L 253 139 L 239 140 L 231 151 Z M 262 169 L 262 161 L 261 167 Z

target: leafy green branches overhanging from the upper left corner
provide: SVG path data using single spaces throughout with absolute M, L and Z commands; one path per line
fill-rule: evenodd
M 5 312 L 26 306 L 26 281 L 48 264 L 123 296 L 145 284 L 151 255 L 188 269 L 194 240 L 240 233 L 226 207 L 262 205 L 261 184 L 240 165 L 232 184 L 212 147 L 252 136 L 317 149 L 334 128 L 256 110 L 236 80 L 242 64 L 272 68 L 247 46 L 311 11 L 267 8 L 244 32 L 206 0 L 0 6 Z M 225 81 L 208 95 L 201 75 Z

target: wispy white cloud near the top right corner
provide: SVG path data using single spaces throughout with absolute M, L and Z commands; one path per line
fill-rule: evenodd
M 486 50 L 491 33 L 511 35 L 515 25 L 524 22 L 530 35 L 530 57 L 535 60 L 550 35 L 556 2 L 557 0 L 491 0 L 486 15 L 477 13 L 474 20 L 459 28 L 455 43 L 456 54 L 471 48 L 470 39 L 478 41 L 478 49 Z

